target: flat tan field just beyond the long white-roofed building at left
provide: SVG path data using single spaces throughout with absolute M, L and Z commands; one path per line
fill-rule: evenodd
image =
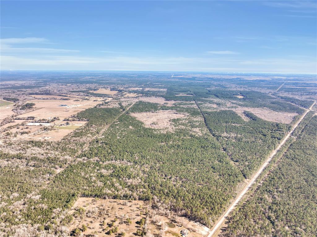
M 54 117 L 59 117 L 60 120 L 63 120 L 83 110 L 84 109 L 42 108 L 22 115 L 18 115 L 17 117 L 25 118 L 29 116 L 34 116 L 35 119 L 53 119 Z

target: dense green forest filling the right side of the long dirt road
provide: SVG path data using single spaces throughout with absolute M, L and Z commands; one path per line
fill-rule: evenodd
M 256 195 L 234 212 L 224 236 L 286 237 L 317 233 L 316 126 L 317 116 L 314 116 Z

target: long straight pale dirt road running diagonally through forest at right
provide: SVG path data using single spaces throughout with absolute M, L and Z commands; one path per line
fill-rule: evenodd
M 259 168 L 259 170 L 252 176 L 252 178 L 249 180 L 248 184 L 244 187 L 244 189 L 240 192 L 240 194 L 236 197 L 236 199 L 231 203 L 231 205 L 228 207 L 226 212 L 218 219 L 216 224 L 213 228 L 210 229 L 209 234 L 207 237 L 211 237 L 215 234 L 215 232 L 221 227 L 223 222 L 227 219 L 227 217 L 230 215 L 230 212 L 236 207 L 236 205 L 240 202 L 240 200 L 243 198 L 243 196 L 246 194 L 246 192 L 250 189 L 252 184 L 255 183 L 256 179 L 259 177 L 259 175 L 263 172 L 266 166 L 270 163 L 272 158 L 275 156 L 275 154 L 279 151 L 279 149 L 284 145 L 284 143 L 288 140 L 288 138 L 292 135 L 295 128 L 297 128 L 298 124 L 303 120 L 303 118 L 307 115 L 309 111 L 312 110 L 314 104 L 316 101 L 312 104 L 312 106 L 309 109 L 306 109 L 305 113 L 301 116 L 301 118 L 295 123 L 292 130 L 286 135 L 284 140 L 280 143 L 278 147 L 271 153 L 271 155 L 268 157 L 268 159 L 264 162 L 264 164 Z

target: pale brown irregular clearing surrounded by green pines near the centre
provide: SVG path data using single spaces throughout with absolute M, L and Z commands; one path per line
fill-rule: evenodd
M 172 119 L 184 118 L 186 115 L 179 114 L 175 110 L 159 110 L 158 112 L 133 113 L 133 117 L 143 122 L 147 128 L 160 128 L 168 131 L 175 129 Z

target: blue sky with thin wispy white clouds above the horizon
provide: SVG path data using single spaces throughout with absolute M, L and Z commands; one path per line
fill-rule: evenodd
M 317 1 L 1 1 L 1 69 L 310 72 Z

